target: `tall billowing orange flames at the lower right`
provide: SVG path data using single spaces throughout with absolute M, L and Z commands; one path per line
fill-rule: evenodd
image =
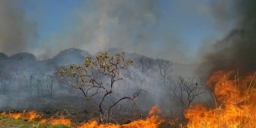
M 217 71 L 206 81 L 214 91 L 216 108 L 203 104 L 184 111 L 188 128 L 245 128 L 256 127 L 256 89 L 253 74 L 241 78 L 234 71 Z M 218 105 L 220 104 L 220 105 Z

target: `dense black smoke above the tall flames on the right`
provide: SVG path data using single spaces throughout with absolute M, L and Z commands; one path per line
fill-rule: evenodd
M 237 21 L 236 28 L 212 45 L 211 51 L 214 52 L 205 56 L 210 73 L 225 69 L 239 69 L 242 72 L 256 71 L 256 1 L 233 1 L 233 9 L 235 10 L 233 14 L 241 19 Z M 217 18 L 227 21 L 227 17 Z

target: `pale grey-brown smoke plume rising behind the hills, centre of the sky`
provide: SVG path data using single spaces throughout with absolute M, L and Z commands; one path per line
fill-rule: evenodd
M 153 0 L 84 2 L 69 16 L 73 19 L 65 23 L 68 27 L 53 34 L 52 43 L 48 44 L 54 46 L 44 46 L 38 55 L 49 57 L 70 47 L 91 54 L 111 47 L 142 48 L 141 44 L 153 40 L 153 34 L 148 31 L 158 25 L 159 14 L 157 2 Z

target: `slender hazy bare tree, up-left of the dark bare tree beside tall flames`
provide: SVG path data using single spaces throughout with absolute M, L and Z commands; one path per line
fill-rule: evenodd
M 156 63 L 159 68 L 159 74 L 163 79 L 163 85 L 166 86 L 166 77 L 172 72 L 172 61 L 157 58 Z

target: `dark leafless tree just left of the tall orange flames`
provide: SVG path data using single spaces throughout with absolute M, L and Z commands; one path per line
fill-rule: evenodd
M 191 102 L 195 101 L 199 95 L 208 92 L 204 88 L 204 82 L 202 80 L 198 80 L 195 77 L 185 80 L 181 76 L 178 77 L 177 82 L 173 82 L 170 90 L 170 95 L 178 98 L 185 109 L 189 108 Z

